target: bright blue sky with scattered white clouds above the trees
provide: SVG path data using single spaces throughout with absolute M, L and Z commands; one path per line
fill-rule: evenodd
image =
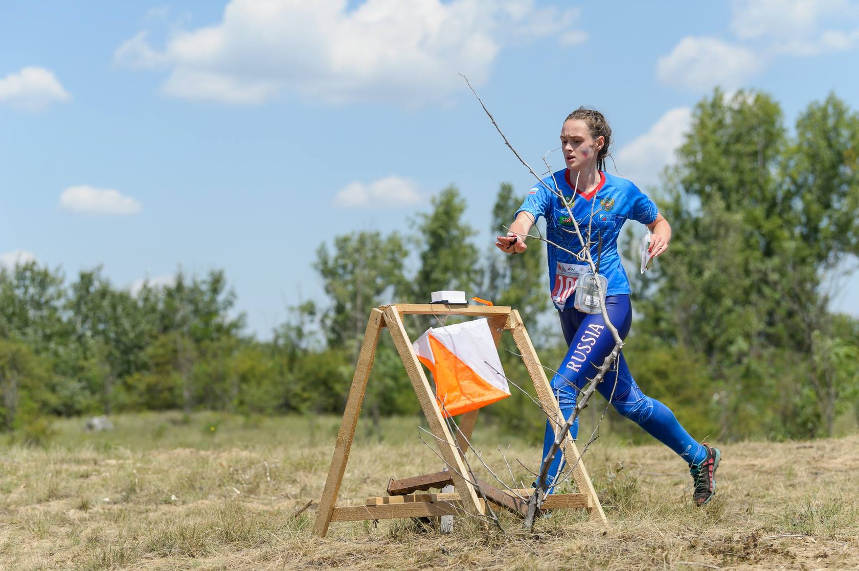
M 322 299 L 323 240 L 408 231 L 448 184 L 490 245 L 498 185 L 532 180 L 460 72 L 535 165 L 600 108 L 649 187 L 715 85 L 769 92 L 791 125 L 830 91 L 859 109 L 857 56 L 848 0 L 8 0 L 0 263 L 103 264 L 120 287 L 223 268 L 267 337 Z M 835 307 L 859 314 L 856 291 Z

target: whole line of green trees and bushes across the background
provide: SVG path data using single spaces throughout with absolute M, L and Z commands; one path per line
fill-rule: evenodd
M 789 130 L 768 94 L 716 90 L 696 106 L 663 184 L 645 190 L 674 235 L 654 270 L 631 275 L 637 320 L 624 351 L 644 391 L 692 434 L 722 440 L 815 437 L 839 418 L 856 422 L 859 320 L 829 307 L 838 271 L 859 255 L 859 115 L 830 95 Z M 490 235 L 505 231 L 523 194 L 500 186 Z M 518 308 L 544 364 L 560 362 L 545 245 L 505 256 L 476 235 L 452 185 L 408 234 L 323 243 L 314 269 L 326 301 L 292 307 L 268 340 L 245 331 L 221 270 L 180 271 L 132 293 L 101 269 L 67 280 L 32 261 L 0 268 L 0 428 L 126 410 L 338 414 L 369 310 L 437 289 Z M 630 259 L 632 246 L 630 233 Z M 416 336 L 440 322 L 406 325 Z M 527 386 L 511 340 L 500 354 Z M 419 411 L 384 335 L 365 402 L 376 421 Z M 539 411 L 521 392 L 486 416 L 539 438 Z

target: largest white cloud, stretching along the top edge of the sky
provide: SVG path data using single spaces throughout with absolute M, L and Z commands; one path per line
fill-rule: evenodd
M 489 76 L 514 39 L 571 29 L 577 9 L 538 8 L 535 0 L 232 0 L 222 21 L 173 33 L 162 48 L 146 32 L 119 46 L 114 61 L 170 71 L 164 94 L 259 104 L 284 91 L 314 101 L 421 106 L 444 101 Z

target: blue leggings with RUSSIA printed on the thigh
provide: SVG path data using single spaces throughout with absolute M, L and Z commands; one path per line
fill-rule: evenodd
M 608 319 L 617 327 L 620 337 L 626 338 L 632 323 L 630 296 L 607 296 L 606 311 Z M 576 407 L 577 393 L 584 389 L 602 365 L 606 355 L 612 352 L 614 339 L 601 313 L 582 313 L 573 308 L 562 309 L 558 313 L 561 316 L 564 339 L 570 349 L 567 350 L 564 362 L 551 379 L 551 388 L 561 406 L 564 418 L 569 418 Z M 615 375 L 618 380 L 617 386 L 614 384 Z M 638 388 L 636 381 L 632 379 L 630 369 L 626 366 L 623 353 L 619 355 L 616 366 L 606 373 L 596 388 L 621 415 L 637 422 L 638 426 L 678 453 L 689 465 L 698 464 L 706 457 L 704 446 L 698 444 L 698 441 L 680 426 L 673 412 L 665 404 L 644 395 Z M 555 428 L 552 422 L 546 422 L 543 440 L 544 459 L 555 440 Z M 579 419 L 576 418 L 576 422 L 570 427 L 570 435 L 575 439 L 578 431 Z M 549 469 L 547 479 L 550 484 L 554 483 L 562 461 L 563 454 L 558 453 Z

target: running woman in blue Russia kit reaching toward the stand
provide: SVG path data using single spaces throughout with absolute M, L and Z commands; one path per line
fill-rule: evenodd
M 600 258 L 599 271 L 608 282 L 606 312 L 621 338 L 630 331 L 632 308 L 630 282 L 618 255 L 620 228 L 629 219 L 646 225 L 651 233 L 649 252 L 653 257 L 665 253 L 671 241 L 671 227 L 659 214 L 655 203 L 629 180 L 605 172 L 611 138 L 612 130 L 602 113 L 584 107 L 570 113 L 561 129 L 561 149 L 567 167 L 546 177 L 528 192 L 525 202 L 516 211 L 510 232 L 496 240 L 502 252 L 525 252 L 524 239 L 528 230 L 540 216 L 545 217 L 546 238 L 550 242 L 547 250 L 551 299 L 570 348 L 552 377 L 551 386 L 567 418 L 576 406 L 576 393 L 588 384 L 614 347 L 614 338 L 601 313 L 582 313 L 573 307 L 576 282 L 588 273 L 589 267 L 570 253 L 582 249 L 570 212 L 585 240 L 588 240 L 590 229 L 591 256 L 594 262 Z M 598 247 L 600 241 L 601 249 Z M 697 506 L 703 506 L 716 493 L 716 468 L 722 454 L 706 442 L 699 444 L 665 404 L 643 394 L 632 379 L 622 353 L 616 367 L 606 374 L 597 390 L 621 415 L 637 422 L 686 461 L 694 480 L 693 500 Z M 578 423 L 576 419 L 570 428 L 573 438 L 578 434 Z M 551 423 L 546 422 L 543 458 L 554 440 Z M 550 493 L 560 472 L 562 457 L 558 453 L 550 467 L 547 477 Z

